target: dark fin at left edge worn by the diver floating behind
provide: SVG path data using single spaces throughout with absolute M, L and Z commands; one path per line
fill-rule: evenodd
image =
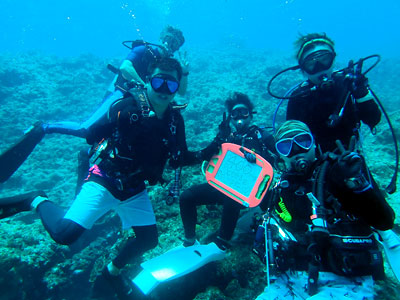
M 42 122 L 36 122 L 12 147 L 0 155 L 0 183 L 6 181 L 22 165 L 44 137 Z

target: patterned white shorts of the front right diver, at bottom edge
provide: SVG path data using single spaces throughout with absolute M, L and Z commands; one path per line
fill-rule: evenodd
M 282 275 L 256 300 L 368 300 L 374 299 L 372 276 L 347 278 L 329 272 L 319 272 L 318 292 L 310 296 L 306 292 L 307 272 L 290 273 L 289 279 Z

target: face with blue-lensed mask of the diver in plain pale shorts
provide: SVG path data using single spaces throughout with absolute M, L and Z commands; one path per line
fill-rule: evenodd
M 178 72 L 156 68 L 146 83 L 147 95 L 154 109 L 164 109 L 179 89 Z

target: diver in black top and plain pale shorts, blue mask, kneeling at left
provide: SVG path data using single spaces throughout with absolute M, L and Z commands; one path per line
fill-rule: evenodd
M 121 269 L 158 243 L 156 220 L 144 181 L 150 185 L 162 182 L 168 159 L 176 165 L 200 163 L 218 149 L 213 144 L 209 152 L 187 150 L 180 107 L 172 104 L 182 76 L 179 62 L 162 58 L 149 70 L 145 87 L 125 93 L 110 107 L 108 121 L 91 128 L 87 136 L 92 145 L 88 176 L 66 213 L 43 191 L 0 199 L 1 219 L 22 211 L 36 211 L 52 239 L 63 245 L 76 241 L 96 220 L 114 209 L 122 227 L 132 228 L 135 237 L 127 240 L 100 276 L 121 298 L 133 291 L 131 281 L 121 275 Z

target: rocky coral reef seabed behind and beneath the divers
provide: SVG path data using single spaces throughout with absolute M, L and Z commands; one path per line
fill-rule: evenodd
M 233 91 L 247 93 L 256 104 L 254 121 L 271 126 L 278 101 L 267 94 L 266 86 L 276 72 L 293 64 L 292 58 L 270 52 L 193 49 L 189 60 L 188 92 L 185 98 L 177 97 L 177 101 L 189 103 L 184 118 L 190 149 L 201 149 L 215 136 L 222 120 L 224 100 Z M 109 62 L 116 65 L 118 59 L 104 60 L 90 55 L 59 58 L 40 53 L 1 55 L 0 151 L 15 142 L 36 120 L 84 121 L 88 118 L 113 78 L 106 69 Z M 400 96 L 395 92 L 395 74 L 399 68 L 399 61 L 383 61 L 369 74 L 371 85 L 388 108 L 395 128 L 400 127 Z M 283 94 L 300 79 L 300 72 L 287 73 L 274 83 L 274 91 Z M 284 110 L 283 105 L 278 117 L 284 116 Z M 364 128 L 368 164 L 382 186 L 389 182 L 394 165 L 387 128 L 384 121 L 376 135 Z M 0 185 L 1 195 L 43 189 L 51 200 L 68 207 L 74 197 L 77 154 L 85 146 L 85 141 L 79 138 L 46 136 L 21 168 Z M 171 179 L 172 170 L 166 170 L 164 176 Z M 199 166 L 184 169 L 182 189 L 203 181 Z M 143 259 L 179 245 L 179 238 L 183 236 L 178 204 L 166 205 L 167 190 L 161 186 L 150 187 L 149 192 L 160 243 Z M 388 201 L 397 212 L 400 211 L 398 199 L 399 192 L 388 195 Z M 218 207 L 199 209 L 199 237 L 217 229 L 219 212 Z M 398 215 L 397 224 L 399 218 Z M 91 299 L 96 276 L 130 234 L 121 231 L 118 217 L 109 214 L 74 245 L 66 247 L 51 240 L 33 213 L 4 219 L 0 223 L 0 299 Z M 214 277 L 210 278 L 209 285 L 191 297 L 197 300 L 254 299 L 260 294 L 266 279 L 263 265 L 251 253 L 251 238 L 236 241 L 229 259 L 219 262 L 213 269 Z M 127 272 L 133 276 L 137 266 L 138 262 L 130 265 Z M 388 280 L 379 283 L 377 295 L 379 299 L 395 299 L 395 290 L 400 286 L 388 266 L 386 273 Z M 180 299 L 184 297 L 181 295 Z

